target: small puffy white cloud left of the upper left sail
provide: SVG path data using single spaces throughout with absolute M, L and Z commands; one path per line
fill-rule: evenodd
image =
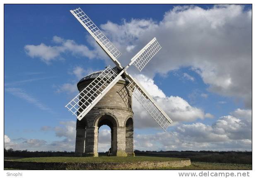
M 73 40 L 53 36 L 53 42 L 57 43 L 58 46 L 46 46 L 41 43 L 40 45 L 26 45 L 24 49 L 31 58 L 40 58 L 46 64 L 49 64 L 52 60 L 61 59 L 61 54 L 65 52 L 71 52 L 74 56 L 80 55 L 89 59 L 97 56 L 87 46 L 77 44 Z

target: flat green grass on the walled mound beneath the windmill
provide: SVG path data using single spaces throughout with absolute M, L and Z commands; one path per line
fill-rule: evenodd
M 153 156 L 99 156 L 99 157 L 35 157 L 11 159 L 9 161 L 31 161 L 31 162 L 138 162 L 138 161 L 179 161 L 182 158 L 167 158 Z

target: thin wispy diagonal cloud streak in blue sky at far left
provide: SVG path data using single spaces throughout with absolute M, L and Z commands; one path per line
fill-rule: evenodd
M 43 103 L 41 103 L 39 100 L 34 98 L 34 96 L 31 96 L 26 91 L 20 89 L 20 88 L 5 88 L 5 91 L 9 92 L 10 94 L 17 96 L 21 99 L 24 99 L 25 101 L 33 104 L 37 108 L 41 109 L 42 111 L 48 111 L 50 113 L 53 113 L 51 108 L 48 106 L 45 106 Z

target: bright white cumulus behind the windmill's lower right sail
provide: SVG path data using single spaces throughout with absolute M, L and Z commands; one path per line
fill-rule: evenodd
M 191 122 L 196 119 L 205 118 L 204 111 L 200 108 L 191 106 L 186 100 L 179 96 L 166 96 L 164 92 L 158 88 L 153 79 L 145 75 L 136 75 L 136 79 L 142 87 L 155 99 L 159 106 L 169 115 L 174 122 Z M 140 103 L 133 98 L 133 112 L 135 127 L 159 127 L 151 116 L 142 108 Z M 211 117 L 208 113 L 206 116 Z

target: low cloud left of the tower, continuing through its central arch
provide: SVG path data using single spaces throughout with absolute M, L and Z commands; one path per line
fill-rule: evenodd
M 61 121 L 59 126 L 43 126 L 40 130 L 44 132 L 55 131 L 57 137 L 62 140 L 47 142 L 40 139 L 18 138 L 11 140 L 7 135 L 4 135 L 4 146 L 6 149 L 14 150 L 29 150 L 29 151 L 75 151 L 75 134 L 76 121 Z M 99 131 L 99 152 L 109 150 L 111 143 L 110 130 L 103 129 Z

